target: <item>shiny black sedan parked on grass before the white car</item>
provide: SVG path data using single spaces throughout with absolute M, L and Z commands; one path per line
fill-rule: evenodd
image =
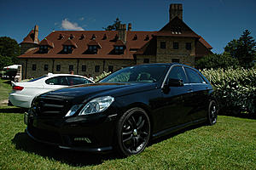
M 26 132 L 63 149 L 142 152 L 149 139 L 217 121 L 212 86 L 187 65 L 126 67 L 95 84 L 39 95 L 25 115 Z

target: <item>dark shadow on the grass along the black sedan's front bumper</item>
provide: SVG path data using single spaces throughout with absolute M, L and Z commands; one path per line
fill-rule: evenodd
M 67 163 L 73 167 L 99 165 L 102 164 L 103 161 L 121 158 L 115 152 L 100 154 L 59 149 L 52 145 L 35 142 L 27 135 L 27 133 L 16 133 L 12 142 L 15 144 L 17 150 L 35 153 L 45 158 L 47 157 L 49 159 L 54 159 L 55 161 Z

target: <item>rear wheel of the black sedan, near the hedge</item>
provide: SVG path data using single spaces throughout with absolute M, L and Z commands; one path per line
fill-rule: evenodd
M 207 124 L 214 125 L 217 122 L 218 117 L 218 105 L 216 101 L 211 100 L 207 111 Z

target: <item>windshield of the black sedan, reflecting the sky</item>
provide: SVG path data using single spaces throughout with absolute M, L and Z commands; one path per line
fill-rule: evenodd
M 114 72 L 101 82 L 158 82 L 167 65 L 136 65 Z

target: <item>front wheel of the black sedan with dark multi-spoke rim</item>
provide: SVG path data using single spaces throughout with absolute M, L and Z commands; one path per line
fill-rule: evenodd
M 135 107 L 126 111 L 117 123 L 117 149 L 121 156 L 141 153 L 150 137 L 150 121 L 146 111 Z

